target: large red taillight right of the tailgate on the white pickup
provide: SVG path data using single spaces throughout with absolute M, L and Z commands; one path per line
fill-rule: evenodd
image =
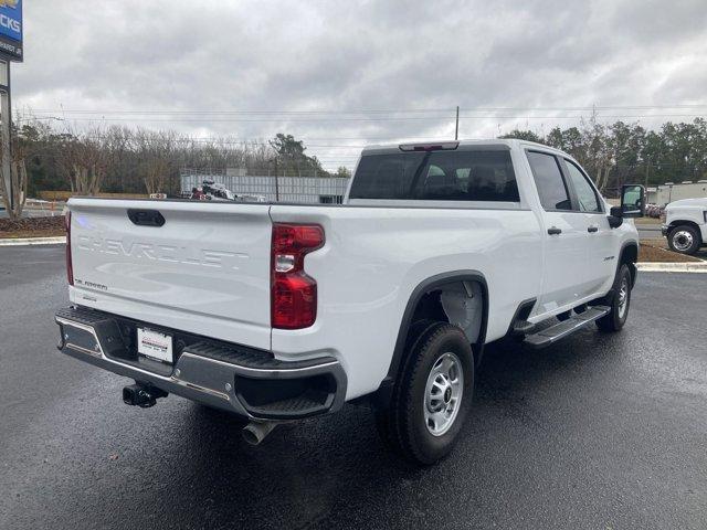
M 317 224 L 274 224 L 271 271 L 273 328 L 308 328 L 317 319 L 317 283 L 304 271 L 305 255 L 321 248 Z

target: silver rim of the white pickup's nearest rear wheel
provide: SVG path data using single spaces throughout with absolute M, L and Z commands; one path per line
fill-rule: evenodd
M 456 354 L 440 357 L 430 374 L 424 392 L 424 423 L 433 436 L 442 436 L 454 424 L 464 393 L 464 371 Z

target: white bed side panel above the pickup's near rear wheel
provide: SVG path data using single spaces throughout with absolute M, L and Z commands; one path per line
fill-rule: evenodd
M 318 285 L 317 321 L 273 330 L 273 351 L 337 357 L 347 399 L 374 391 L 387 375 L 405 305 L 428 278 L 455 271 L 486 278 L 487 340 L 503 337 L 519 301 L 539 293 L 541 232 L 530 210 L 273 205 L 271 216 L 318 223 L 326 233 L 305 262 Z

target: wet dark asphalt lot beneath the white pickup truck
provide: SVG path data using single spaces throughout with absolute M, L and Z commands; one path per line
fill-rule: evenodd
M 228 415 L 56 352 L 62 247 L 0 248 L 0 528 L 707 528 L 707 275 L 642 274 L 627 327 L 488 349 L 446 460 L 365 407 L 250 447 Z

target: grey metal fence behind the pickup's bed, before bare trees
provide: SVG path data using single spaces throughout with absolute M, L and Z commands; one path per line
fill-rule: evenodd
M 182 171 L 181 192 L 188 194 L 204 180 L 225 186 L 236 195 L 262 195 L 272 202 L 341 204 L 349 179 L 338 177 L 238 176 Z

